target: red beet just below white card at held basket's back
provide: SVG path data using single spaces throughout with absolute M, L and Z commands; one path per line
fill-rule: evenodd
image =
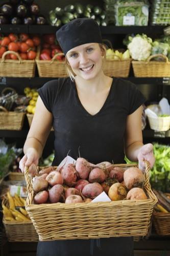
M 77 172 L 75 165 L 72 163 L 64 165 L 61 170 L 61 176 L 63 177 L 64 184 L 70 187 L 74 186 L 77 181 Z

